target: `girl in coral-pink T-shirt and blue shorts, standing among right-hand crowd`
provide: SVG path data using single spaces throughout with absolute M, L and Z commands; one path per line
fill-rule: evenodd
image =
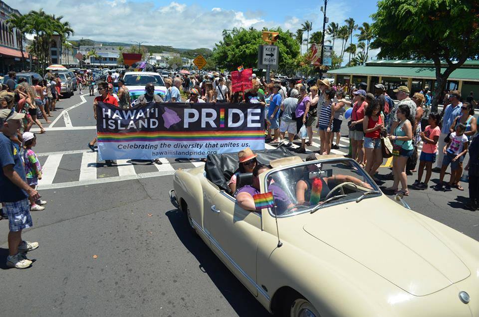
M 431 113 L 428 118 L 429 126 L 426 127 L 424 132 L 420 133 L 421 140 L 423 140 L 423 150 L 419 157 L 418 179 L 414 182 L 413 188 L 428 188 L 433 163 L 436 162 L 436 154 L 438 153 L 438 141 L 441 134 L 441 128 L 438 127 L 440 120 L 441 116 L 438 113 Z M 421 182 L 424 167 L 426 167 L 426 178 L 424 179 L 424 182 Z

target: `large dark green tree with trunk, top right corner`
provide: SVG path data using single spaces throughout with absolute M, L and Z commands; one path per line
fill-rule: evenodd
M 479 1 L 380 0 L 372 18 L 371 48 L 381 49 L 378 57 L 434 61 L 437 111 L 448 77 L 478 56 Z

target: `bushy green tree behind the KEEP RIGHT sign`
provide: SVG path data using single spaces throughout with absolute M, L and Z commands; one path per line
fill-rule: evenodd
M 299 56 L 299 43 L 294 35 L 281 28 L 269 29 L 279 33 L 279 40 L 275 43 L 279 50 L 278 72 L 292 74 L 297 67 L 296 57 Z M 261 38 L 261 31 L 254 28 L 234 28 L 233 31 L 224 31 L 223 40 L 215 44 L 213 59 L 220 68 L 236 69 L 239 65 L 244 68 L 256 68 L 258 46 L 265 44 Z

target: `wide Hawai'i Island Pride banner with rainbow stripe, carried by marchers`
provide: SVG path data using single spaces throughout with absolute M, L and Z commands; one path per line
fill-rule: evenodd
M 150 103 L 127 110 L 98 103 L 99 159 L 206 158 L 264 150 L 257 104 Z

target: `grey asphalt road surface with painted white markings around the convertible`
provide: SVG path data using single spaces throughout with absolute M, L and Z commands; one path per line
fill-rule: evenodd
M 38 135 L 39 191 L 48 204 L 32 212 L 34 227 L 23 232 L 40 244 L 28 254 L 35 260 L 29 269 L 6 268 L 8 222 L 0 221 L 2 315 L 267 316 L 170 204 L 174 170 L 202 162 L 104 166 L 86 147 L 95 135 L 92 101 L 78 93 L 61 101 L 59 119 Z M 347 153 L 347 146 L 342 138 L 338 153 Z M 432 181 L 438 177 L 433 173 Z M 411 190 L 406 201 L 479 240 L 479 213 L 462 209 L 464 185 L 465 192 Z

